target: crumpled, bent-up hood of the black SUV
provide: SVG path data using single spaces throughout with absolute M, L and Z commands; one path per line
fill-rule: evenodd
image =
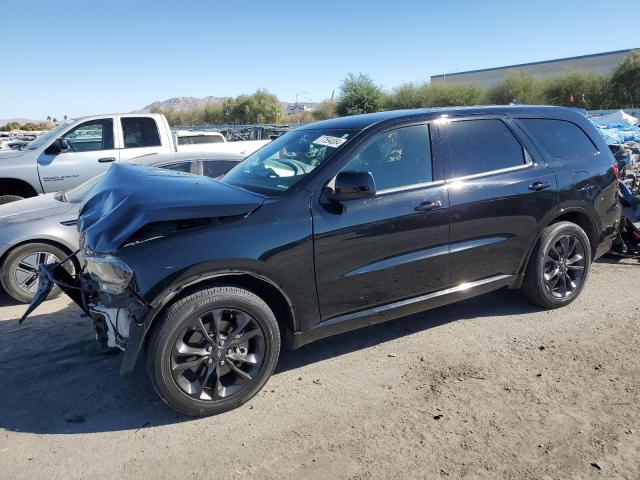
M 116 163 L 85 199 L 78 225 L 85 246 L 113 253 L 148 223 L 243 215 L 264 199 L 199 175 Z

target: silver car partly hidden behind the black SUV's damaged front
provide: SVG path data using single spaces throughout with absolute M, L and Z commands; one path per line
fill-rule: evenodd
M 151 154 L 128 163 L 217 178 L 240 162 L 234 153 Z M 38 266 L 58 262 L 78 249 L 78 212 L 101 175 L 78 187 L 0 205 L 0 282 L 15 300 L 29 303 L 38 288 Z M 68 264 L 70 273 L 80 265 Z M 58 289 L 49 298 L 60 294 Z

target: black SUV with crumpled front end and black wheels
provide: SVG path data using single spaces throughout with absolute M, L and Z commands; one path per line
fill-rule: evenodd
M 384 112 L 298 128 L 220 181 L 114 165 L 81 210 L 85 266 L 44 266 L 98 337 L 145 352 L 190 415 L 235 408 L 293 348 L 501 287 L 577 298 L 621 217 L 614 159 L 556 107 Z M 79 287 L 79 288 L 78 288 Z

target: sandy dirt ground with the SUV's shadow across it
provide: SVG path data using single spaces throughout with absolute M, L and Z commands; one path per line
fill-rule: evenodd
M 541 311 L 500 291 L 284 352 L 191 419 L 64 299 L 0 296 L 0 478 L 640 478 L 640 265 Z

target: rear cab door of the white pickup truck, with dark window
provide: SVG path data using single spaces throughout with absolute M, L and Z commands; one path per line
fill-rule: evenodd
M 120 161 L 126 162 L 132 158 L 151 153 L 164 153 L 170 151 L 162 145 L 158 124 L 153 117 L 119 117 Z M 166 143 L 166 142 L 165 142 Z

